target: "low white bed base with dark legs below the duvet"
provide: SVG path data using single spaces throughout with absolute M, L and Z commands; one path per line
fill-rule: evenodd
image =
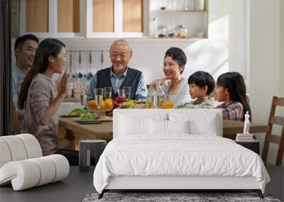
M 188 192 L 192 190 L 251 190 L 263 198 L 255 177 L 233 176 L 116 176 L 109 179 L 99 198 L 111 190 Z

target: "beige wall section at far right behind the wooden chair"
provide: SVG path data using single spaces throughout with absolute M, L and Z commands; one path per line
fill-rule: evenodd
M 284 96 L 281 47 L 284 32 L 280 30 L 283 29 L 280 26 L 283 23 L 280 1 L 251 0 L 250 101 L 253 121 L 256 123 L 267 124 L 272 96 Z M 273 131 L 275 135 L 280 134 L 279 128 Z M 258 137 L 263 145 L 264 135 Z M 275 163 L 277 148 L 273 145 L 269 150 L 268 162 Z

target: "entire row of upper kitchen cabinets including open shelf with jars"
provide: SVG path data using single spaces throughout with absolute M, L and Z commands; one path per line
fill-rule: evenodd
M 39 38 L 208 35 L 208 0 L 21 0 L 20 15 L 20 34 Z

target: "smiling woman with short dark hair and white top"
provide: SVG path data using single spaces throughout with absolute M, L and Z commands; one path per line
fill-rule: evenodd
M 163 72 L 165 77 L 153 81 L 149 89 L 155 89 L 158 84 L 161 84 L 161 88 L 165 94 L 173 94 L 175 96 L 175 106 L 189 102 L 190 96 L 187 79 L 181 75 L 185 69 L 186 62 L 187 57 L 183 50 L 179 47 L 170 47 L 165 52 L 164 57 Z

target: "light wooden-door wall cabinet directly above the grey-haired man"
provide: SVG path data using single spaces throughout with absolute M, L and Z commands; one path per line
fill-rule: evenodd
M 87 38 L 143 37 L 143 0 L 87 0 Z

